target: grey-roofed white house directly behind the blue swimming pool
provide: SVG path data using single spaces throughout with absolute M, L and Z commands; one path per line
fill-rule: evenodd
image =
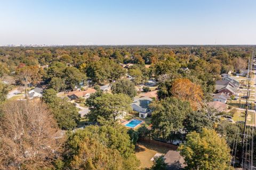
M 146 118 L 148 115 L 149 110 L 149 103 L 151 103 L 153 99 L 145 96 L 142 98 L 134 99 L 132 102 L 132 109 L 134 111 L 139 112 L 139 117 Z

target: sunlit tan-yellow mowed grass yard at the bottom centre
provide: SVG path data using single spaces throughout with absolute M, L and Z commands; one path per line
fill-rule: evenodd
M 153 161 L 150 159 L 153 158 L 156 153 L 165 155 L 169 150 L 171 149 L 153 143 L 138 142 L 135 146 L 135 155 L 140 160 L 140 168 L 149 168 L 153 165 Z

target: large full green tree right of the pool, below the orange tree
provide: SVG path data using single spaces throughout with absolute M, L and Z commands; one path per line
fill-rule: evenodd
M 191 112 L 187 101 L 177 98 L 166 98 L 150 104 L 152 112 L 151 123 L 153 124 L 154 134 L 163 139 L 170 139 L 171 133 L 179 131 L 183 127 L 182 123 L 186 116 Z

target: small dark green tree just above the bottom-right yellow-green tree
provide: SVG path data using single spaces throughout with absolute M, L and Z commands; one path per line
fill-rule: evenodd
M 213 122 L 206 117 L 206 114 L 202 111 L 193 111 L 187 115 L 186 119 L 183 122 L 183 126 L 186 129 L 186 132 L 202 132 L 202 129 L 212 128 Z

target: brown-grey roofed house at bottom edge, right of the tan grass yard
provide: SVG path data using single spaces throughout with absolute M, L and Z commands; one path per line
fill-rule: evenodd
M 185 168 L 185 160 L 180 155 L 179 151 L 169 150 L 164 156 L 164 162 L 167 164 L 167 169 L 180 170 Z

